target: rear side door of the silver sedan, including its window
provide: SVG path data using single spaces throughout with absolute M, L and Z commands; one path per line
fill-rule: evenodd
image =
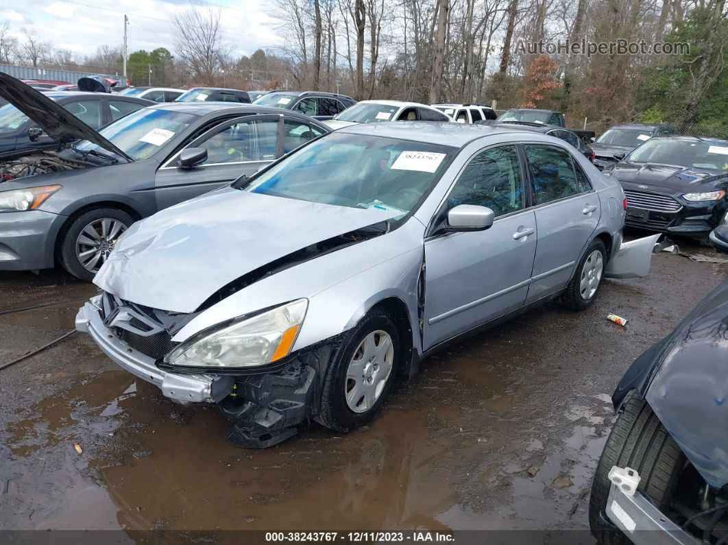
M 539 242 L 527 303 L 566 287 L 599 222 L 601 206 L 585 172 L 561 146 L 524 144 Z

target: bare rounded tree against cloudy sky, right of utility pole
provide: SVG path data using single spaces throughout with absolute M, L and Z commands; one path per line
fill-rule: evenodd
M 199 84 L 213 85 L 230 47 L 223 44 L 220 10 L 193 7 L 175 15 L 175 49 Z

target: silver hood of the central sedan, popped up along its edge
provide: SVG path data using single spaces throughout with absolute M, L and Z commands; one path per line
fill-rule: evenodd
M 125 301 L 190 313 L 250 271 L 398 213 L 226 188 L 135 223 L 94 283 Z

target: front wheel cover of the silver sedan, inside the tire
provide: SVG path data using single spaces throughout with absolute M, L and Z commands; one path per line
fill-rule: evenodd
M 365 413 L 384 391 L 395 359 L 395 346 L 389 333 L 369 333 L 354 351 L 347 367 L 344 396 L 349 409 Z

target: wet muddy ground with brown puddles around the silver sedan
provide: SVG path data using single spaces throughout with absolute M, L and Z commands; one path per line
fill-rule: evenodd
M 583 530 L 614 386 L 727 275 L 661 252 L 584 313 L 549 304 L 431 357 L 371 426 L 312 423 L 269 450 L 230 445 L 215 410 L 173 405 L 73 335 L 0 370 L 0 529 Z M 71 330 L 81 303 L 6 311 L 94 292 L 0 273 L 0 365 Z

